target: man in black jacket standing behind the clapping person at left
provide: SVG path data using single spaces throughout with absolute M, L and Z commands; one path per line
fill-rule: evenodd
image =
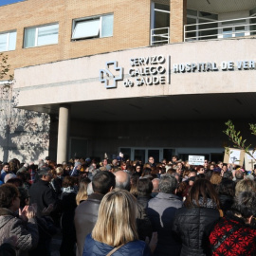
M 37 174 L 39 179 L 30 187 L 29 194 L 30 204 L 37 205 L 36 215 L 41 217 L 42 211 L 45 208 L 48 208 L 49 205 L 53 205 L 54 210 L 56 210 L 58 206 L 58 200 L 56 198 L 55 192 L 49 186 L 49 182 L 52 178 L 50 169 L 47 167 L 41 168 Z

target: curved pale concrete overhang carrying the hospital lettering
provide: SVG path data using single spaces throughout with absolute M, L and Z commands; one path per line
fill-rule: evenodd
M 175 120 L 255 119 L 256 68 L 238 68 L 255 62 L 255 38 L 151 46 L 82 57 L 15 70 L 18 107 L 58 115 L 60 104 L 71 105 L 71 119 Z M 124 86 L 130 59 L 164 56 L 166 82 Z M 106 89 L 100 70 L 117 61 L 123 78 Z M 218 70 L 174 72 L 174 64 L 215 64 Z M 230 70 L 222 64 L 234 64 Z M 156 65 L 155 65 L 156 66 Z M 142 68 L 144 65 L 138 65 Z M 168 80 L 170 79 L 170 83 Z

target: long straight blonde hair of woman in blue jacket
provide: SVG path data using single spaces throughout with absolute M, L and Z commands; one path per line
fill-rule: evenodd
M 112 247 L 137 240 L 136 216 L 136 198 L 130 192 L 108 192 L 101 201 L 92 238 Z

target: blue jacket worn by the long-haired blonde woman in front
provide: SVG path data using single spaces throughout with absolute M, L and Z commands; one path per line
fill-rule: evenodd
M 85 239 L 82 256 L 105 256 L 114 247 L 95 241 L 91 234 L 88 234 Z M 151 251 L 148 245 L 140 240 L 129 242 L 120 247 L 113 256 L 151 256 Z

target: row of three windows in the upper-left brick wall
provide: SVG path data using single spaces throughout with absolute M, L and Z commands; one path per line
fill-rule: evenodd
M 113 14 L 82 18 L 73 21 L 72 41 L 113 36 Z M 0 52 L 15 50 L 16 30 L 0 33 Z M 24 48 L 58 44 L 59 24 L 26 27 Z

